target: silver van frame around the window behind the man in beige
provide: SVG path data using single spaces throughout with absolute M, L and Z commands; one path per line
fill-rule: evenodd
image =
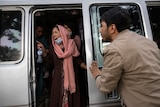
M 121 0 L 121 1 L 113 1 L 113 0 L 92 0 L 92 1 L 85 1 L 82 4 L 82 11 L 83 11 L 83 20 L 85 23 L 84 26 L 84 35 L 85 36 L 85 43 L 86 43 L 86 60 L 87 60 L 87 68 L 88 68 L 88 88 L 89 88 L 89 102 L 90 102 L 90 106 L 91 107 L 96 107 L 97 105 L 99 106 L 109 106 L 109 104 L 105 104 L 105 102 L 103 102 L 103 99 L 101 99 L 101 96 L 104 96 L 97 88 L 96 83 L 94 78 L 92 77 L 92 74 L 89 71 L 89 66 L 91 65 L 92 60 L 94 60 L 94 50 L 93 50 L 93 46 L 94 44 L 92 43 L 92 31 L 91 31 L 91 24 L 93 24 L 92 20 L 91 20 L 91 15 L 90 15 L 90 6 L 94 5 L 94 4 L 118 4 L 118 3 L 136 3 L 140 6 L 140 10 L 142 13 L 142 20 L 143 20 L 143 24 L 144 24 L 144 32 L 145 32 L 145 37 L 149 38 L 149 39 L 153 39 L 152 38 L 152 33 L 151 33 L 151 27 L 150 27 L 150 23 L 149 23 L 149 18 L 148 18 L 148 13 L 147 13 L 147 8 L 146 8 L 146 4 L 145 1 L 139 1 L 139 0 L 135 0 L 134 2 L 129 2 L 128 0 Z M 94 32 L 95 33 L 95 32 Z M 95 100 L 98 99 L 99 101 Z

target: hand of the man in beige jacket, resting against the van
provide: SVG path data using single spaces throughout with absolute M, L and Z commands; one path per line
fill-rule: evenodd
M 97 62 L 93 61 L 91 66 L 89 67 L 90 68 L 90 71 L 93 75 L 93 77 L 96 79 L 98 76 L 101 75 L 101 71 L 99 70 L 98 68 L 98 64 Z

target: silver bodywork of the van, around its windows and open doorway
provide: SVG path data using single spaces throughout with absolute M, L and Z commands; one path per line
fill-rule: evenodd
M 81 9 L 85 40 L 85 62 L 87 64 L 89 107 L 120 107 L 120 97 L 113 99 L 106 98 L 106 94 L 98 90 L 95 80 L 89 71 L 89 66 L 93 60 L 99 58 L 98 56 L 102 59 L 101 52 L 97 49 L 98 46 L 96 47 L 96 42 L 99 40 L 96 37 L 99 35 L 99 31 L 97 30 L 99 25 L 95 24 L 99 20 L 97 8 L 122 4 L 136 4 L 140 8 L 139 15 L 142 18 L 141 23 L 144 36 L 154 40 L 147 5 L 160 6 L 159 0 L 0 0 L 0 13 L 1 10 L 15 10 L 15 8 L 23 10 L 21 58 L 18 61 L 4 63 L 0 61 L 0 106 L 36 107 L 34 14 L 37 11 Z M 13 7 L 14 9 L 12 9 Z M 101 68 L 103 61 L 98 61 L 100 63 L 99 68 Z

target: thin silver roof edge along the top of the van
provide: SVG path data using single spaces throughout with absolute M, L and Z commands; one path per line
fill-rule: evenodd
M 51 4 L 82 4 L 83 2 L 104 3 L 104 2 L 159 2 L 159 0 L 0 0 L 0 6 L 4 5 L 51 5 Z

